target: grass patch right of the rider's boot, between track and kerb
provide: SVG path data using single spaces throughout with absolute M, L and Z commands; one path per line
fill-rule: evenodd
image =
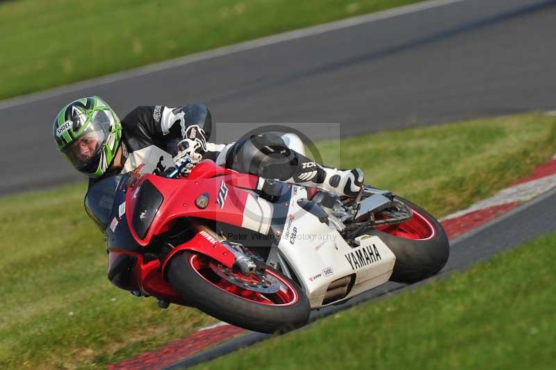
M 366 183 L 443 216 L 507 187 L 550 158 L 555 121 L 541 114 L 513 115 L 354 137 L 341 142 L 341 160 L 337 142 L 318 148 L 325 163 L 361 167 Z

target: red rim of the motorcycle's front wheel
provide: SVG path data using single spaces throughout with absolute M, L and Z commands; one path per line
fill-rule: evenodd
M 293 305 L 299 298 L 293 285 L 291 285 L 291 283 L 275 271 L 268 269 L 265 271 L 265 274 L 278 280 L 280 289 L 275 293 L 266 294 L 245 289 L 239 285 L 235 285 L 227 280 L 224 280 L 223 278 L 220 278 L 220 276 L 216 275 L 211 267 L 209 267 L 208 264 L 210 261 L 211 260 L 206 258 L 204 255 L 192 254 L 189 256 L 189 264 L 199 276 L 201 276 L 207 283 L 218 287 L 218 289 L 222 289 L 228 294 L 233 294 L 234 296 L 238 296 L 239 298 L 243 298 L 254 303 L 280 306 Z M 239 272 L 234 272 L 234 276 L 246 282 L 256 282 L 256 280 L 258 280 L 257 276 L 245 276 Z

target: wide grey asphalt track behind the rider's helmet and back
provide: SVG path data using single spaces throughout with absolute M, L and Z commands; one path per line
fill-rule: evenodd
M 0 102 L 0 195 L 80 178 L 57 153 L 51 122 L 65 103 L 92 94 L 122 116 L 138 105 L 202 101 L 220 122 L 341 124 L 303 126 L 312 140 L 553 109 L 555 5 L 448 1 Z M 214 141 L 241 134 L 222 124 Z

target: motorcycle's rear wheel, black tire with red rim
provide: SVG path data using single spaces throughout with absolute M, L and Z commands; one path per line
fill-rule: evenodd
M 448 261 L 450 244 L 439 221 L 418 205 L 396 196 L 413 211 L 409 221 L 368 228 L 361 234 L 377 235 L 395 255 L 390 280 L 414 283 L 438 273 Z

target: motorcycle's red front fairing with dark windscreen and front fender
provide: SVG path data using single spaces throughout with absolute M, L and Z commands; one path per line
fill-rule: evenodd
M 235 226 L 248 224 L 256 230 L 261 229 L 261 221 L 250 220 L 257 215 L 243 217 L 246 205 L 264 202 L 250 194 L 258 184 L 256 176 L 238 174 L 210 161 L 197 165 L 186 179 L 143 175 L 137 169 L 99 181 L 85 196 L 85 209 L 106 235 L 109 280 L 122 289 L 183 304 L 163 274 L 166 262 L 173 255 L 189 249 L 228 267 L 234 264 L 234 255 L 218 237 L 215 240 L 206 237 L 206 233 L 197 233 L 175 246 L 163 261 L 153 260 L 145 255 L 160 246 L 153 238 L 165 233 L 174 220 L 183 217 L 213 219 Z M 195 199 L 202 194 L 209 199 L 204 209 L 195 204 Z M 272 213 L 272 208 L 268 205 L 267 208 L 261 209 L 261 214 Z M 267 228 L 270 228 L 270 217 L 267 215 L 267 218 Z

